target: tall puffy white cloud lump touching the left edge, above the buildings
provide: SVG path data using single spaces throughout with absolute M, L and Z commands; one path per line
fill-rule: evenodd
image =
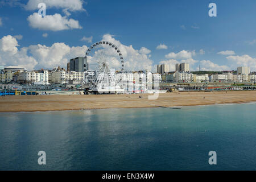
M 18 65 L 32 69 L 37 64 L 34 57 L 27 55 L 27 48 L 23 47 L 18 50 L 17 40 L 7 35 L 0 39 L 0 64 L 1 65 Z

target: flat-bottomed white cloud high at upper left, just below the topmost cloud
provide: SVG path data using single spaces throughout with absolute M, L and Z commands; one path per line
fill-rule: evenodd
M 27 18 L 32 28 L 38 28 L 39 30 L 69 30 L 73 28 L 82 28 L 79 25 L 79 21 L 74 19 L 68 19 L 66 16 L 60 14 L 46 15 L 44 18 L 34 13 Z

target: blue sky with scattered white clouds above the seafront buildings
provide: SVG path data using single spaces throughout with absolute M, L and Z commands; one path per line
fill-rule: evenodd
M 210 17 L 210 3 L 217 16 Z M 46 16 L 38 14 L 46 4 Z M 106 40 L 125 69 L 189 63 L 191 71 L 256 71 L 255 0 L 0 0 L 0 65 L 67 67 Z M 90 63 L 90 62 L 89 62 Z M 113 58 L 113 67 L 120 64 Z

